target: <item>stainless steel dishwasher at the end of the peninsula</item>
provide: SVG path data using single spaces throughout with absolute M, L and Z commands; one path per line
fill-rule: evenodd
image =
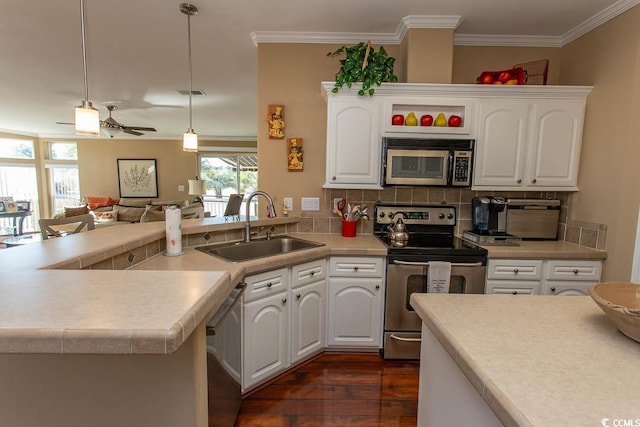
M 242 294 L 239 283 L 207 322 L 209 427 L 233 427 L 241 405 Z

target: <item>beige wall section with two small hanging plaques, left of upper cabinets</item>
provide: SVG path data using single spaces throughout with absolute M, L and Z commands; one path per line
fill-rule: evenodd
M 327 103 L 322 98 L 320 82 L 335 80 L 340 68 L 339 59 L 342 58 L 326 54 L 338 47 L 270 43 L 258 46 L 259 187 L 274 198 L 278 212 L 282 210 L 284 197 L 294 198 L 292 214 L 296 215 L 300 213 L 301 197 L 319 197 L 323 209 L 329 206 L 322 190 L 326 165 Z M 385 46 L 385 50 L 396 57 L 399 46 Z M 266 118 L 269 104 L 284 105 L 285 139 L 268 138 Z M 287 171 L 287 138 L 303 139 L 302 172 Z

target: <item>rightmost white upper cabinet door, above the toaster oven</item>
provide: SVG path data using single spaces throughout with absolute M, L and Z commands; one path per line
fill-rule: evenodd
M 535 102 L 527 185 L 577 188 L 584 107 L 579 100 Z

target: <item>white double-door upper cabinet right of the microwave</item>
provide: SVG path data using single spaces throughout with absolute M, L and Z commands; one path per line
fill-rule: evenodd
M 587 93 L 481 100 L 473 189 L 576 191 Z

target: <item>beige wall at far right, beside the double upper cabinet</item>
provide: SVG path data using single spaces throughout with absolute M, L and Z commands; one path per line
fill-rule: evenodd
M 593 85 L 573 217 L 607 224 L 603 279 L 631 278 L 640 205 L 640 6 L 562 48 L 561 84 Z

